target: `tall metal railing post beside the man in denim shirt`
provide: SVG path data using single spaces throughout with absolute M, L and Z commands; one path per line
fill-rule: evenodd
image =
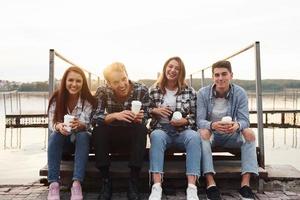
M 260 45 L 254 44 L 255 68 L 256 68 L 256 106 L 257 106 L 257 130 L 258 146 L 260 156 L 260 166 L 265 168 L 265 150 L 264 150 L 264 129 L 263 129 L 263 108 L 262 108 L 262 84 L 261 84 L 261 65 L 260 65 Z

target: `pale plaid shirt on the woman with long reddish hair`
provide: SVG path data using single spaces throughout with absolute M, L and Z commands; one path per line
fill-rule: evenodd
M 91 113 L 92 113 L 92 105 L 87 100 L 84 101 L 84 105 L 82 105 L 82 103 L 83 102 L 82 102 L 81 98 L 79 97 L 75 108 L 73 109 L 73 111 L 71 113 L 68 113 L 68 114 L 77 117 L 79 119 L 79 121 L 86 126 L 86 130 L 89 130 L 91 128 L 90 117 L 91 117 Z M 49 112 L 48 112 L 48 119 L 49 119 L 48 120 L 49 121 L 48 128 L 52 132 L 55 131 L 55 127 L 54 127 L 54 123 L 53 123 L 55 107 L 56 107 L 56 102 L 54 100 L 51 103 Z

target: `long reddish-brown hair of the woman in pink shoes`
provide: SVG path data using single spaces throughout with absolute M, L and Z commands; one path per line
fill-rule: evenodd
M 80 97 L 82 99 L 83 105 L 84 105 L 85 101 L 88 101 L 93 106 L 93 108 L 95 108 L 97 106 L 97 101 L 90 92 L 84 72 L 82 71 L 82 69 L 80 69 L 77 66 L 71 66 L 65 71 L 65 73 L 61 79 L 59 89 L 57 89 L 53 93 L 53 95 L 51 96 L 51 98 L 49 100 L 48 112 L 49 112 L 49 108 L 50 108 L 51 104 L 54 101 L 56 102 L 53 123 L 62 122 L 64 115 L 68 113 L 67 102 L 69 99 L 69 92 L 66 88 L 66 80 L 67 80 L 67 76 L 70 72 L 78 73 L 82 77 L 83 83 L 82 83 L 82 88 L 80 91 Z

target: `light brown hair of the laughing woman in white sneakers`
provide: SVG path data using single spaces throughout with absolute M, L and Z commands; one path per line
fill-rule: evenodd
M 182 88 L 186 86 L 185 67 L 184 67 L 183 61 L 178 56 L 171 57 L 165 62 L 162 73 L 160 74 L 158 80 L 156 81 L 156 85 L 158 85 L 158 87 L 163 91 L 164 94 L 166 93 L 165 87 L 166 87 L 166 84 L 167 84 L 167 81 L 168 81 L 167 77 L 166 77 L 166 69 L 167 69 L 167 66 L 168 66 L 169 62 L 172 61 L 172 60 L 176 60 L 179 64 L 179 67 L 180 67 L 178 80 L 177 80 L 177 86 L 178 86 L 177 94 L 179 94 L 181 92 Z

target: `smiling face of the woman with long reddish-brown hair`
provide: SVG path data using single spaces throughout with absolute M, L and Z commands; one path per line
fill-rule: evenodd
M 66 78 L 66 89 L 69 94 L 77 95 L 80 93 L 83 85 L 83 78 L 79 73 L 70 71 Z

